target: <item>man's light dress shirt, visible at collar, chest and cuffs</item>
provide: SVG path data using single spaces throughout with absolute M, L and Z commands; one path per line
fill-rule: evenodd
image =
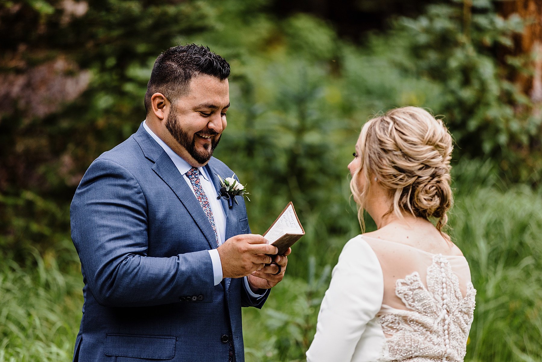
M 167 155 L 171 158 L 171 161 L 173 161 L 173 164 L 175 164 L 175 167 L 179 170 L 179 173 L 183 176 L 186 183 L 188 183 L 188 186 L 190 186 L 190 189 L 192 190 L 192 193 L 194 194 L 194 197 L 196 197 L 196 192 L 194 191 L 192 187 L 192 183 L 190 182 L 190 179 L 186 175 L 186 172 L 192 168 L 188 162 L 183 160 L 182 157 L 177 155 L 175 151 L 173 151 L 160 137 L 154 134 L 153 131 L 147 126 L 146 120 L 143 122 L 143 127 L 145 130 L 151 135 L 151 137 L 156 141 L 160 147 L 166 151 Z M 205 170 L 204 167 L 198 167 L 199 169 L 199 181 L 201 181 L 202 188 L 205 192 L 205 195 L 207 195 L 207 199 L 209 200 L 209 205 L 211 206 L 211 212 L 212 216 L 215 219 L 215 226 L 216 226 L 216 233 L 218 235 L 218 245 L 222 245 L 222 243 L 225 242 L 225 234 L 226 234 L 226 214 L 224 212 L 224 208 L 222 207 L 222 202 L 220 200 L 217 200 L 215 195 L 217 195 L 215 186 L 212 184 L 211 179 L 209 175 L 207 174 L 207 170 Z M 222 262 L 220 261 L 220 255 L 218 254 L 218 250 L 211 249 L 209 250 L 209 255 L 211 256 L 211 262 L 212 262 L 212 270 L 214 273 L 214 281 L 215 285 L 219 284 L 222 279 Z M 255 294 L 252 290 L 250 290 L 250 286 L 248 284 L 247 277 L 244 277 L 244 287 L 247 289 L 248 293 L 257 298 L 260 296 L 263 296 L 263 294 Z

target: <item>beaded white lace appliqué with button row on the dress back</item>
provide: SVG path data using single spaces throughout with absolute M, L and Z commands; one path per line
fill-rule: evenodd
M 462 362 L 473 321 L 476 290 L 467 283 L 463 297 L 448 259 L 433 257 L 427 288 L 417 271 L 396 282 L 395 294 L 408 310 L 379 317 L 385 335 L 383 361 Z

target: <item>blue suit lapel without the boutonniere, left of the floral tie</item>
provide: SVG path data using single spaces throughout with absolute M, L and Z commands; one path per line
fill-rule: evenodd
M 166 151 L 152 139 L 151 135 L 143 128 L 143 125 L 139 127 L 134 138 L 138 142 L 139 147 L 141 147 L 145 157 L 154 162 L 152 167 L 154 172 L 177 195 L 177 198 L 182 202 L 196 225 L 204 234 L 211 249 L 216 249 L 215 231 L 212 230 L 211 223 L 203 208 L 199 205 L 199 201 L 193 195 L 190 186 L 186 183 L 184 177 L 179 174 L 175 163 L 171 161 Z M 179 220 L 179 222 L 182 222 L 182 220 Z

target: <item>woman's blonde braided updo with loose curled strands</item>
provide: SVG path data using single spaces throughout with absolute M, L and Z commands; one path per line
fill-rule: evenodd
M 365 123 L 358 142 L 360 166 L 354 170 L 350 189 L 358 205 L 362 232 L 370 180 L 376 177 L 393 200 L 385 215 L 393 213 L 403 219 L 406 212 L 427 220 L 435 218 L 436 228 L 442 233 L 453 204 L 453 145 L 442 120 L 418 107 L 392 109 Z M 362 173 L 366 182 L 360 188 Z

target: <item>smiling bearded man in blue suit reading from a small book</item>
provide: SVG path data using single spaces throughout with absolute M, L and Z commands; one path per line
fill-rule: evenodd
M 160 54 L 145 121 L 83 176 L 70 208 L 85 282 L 74 361 L 244 360 L 241 307 L 262 307 L 287 257 L 250 234 L 242 197 L 217 199 L 217 175 L 233 174 L 212 157 L 229 73 L 202 46 Z

